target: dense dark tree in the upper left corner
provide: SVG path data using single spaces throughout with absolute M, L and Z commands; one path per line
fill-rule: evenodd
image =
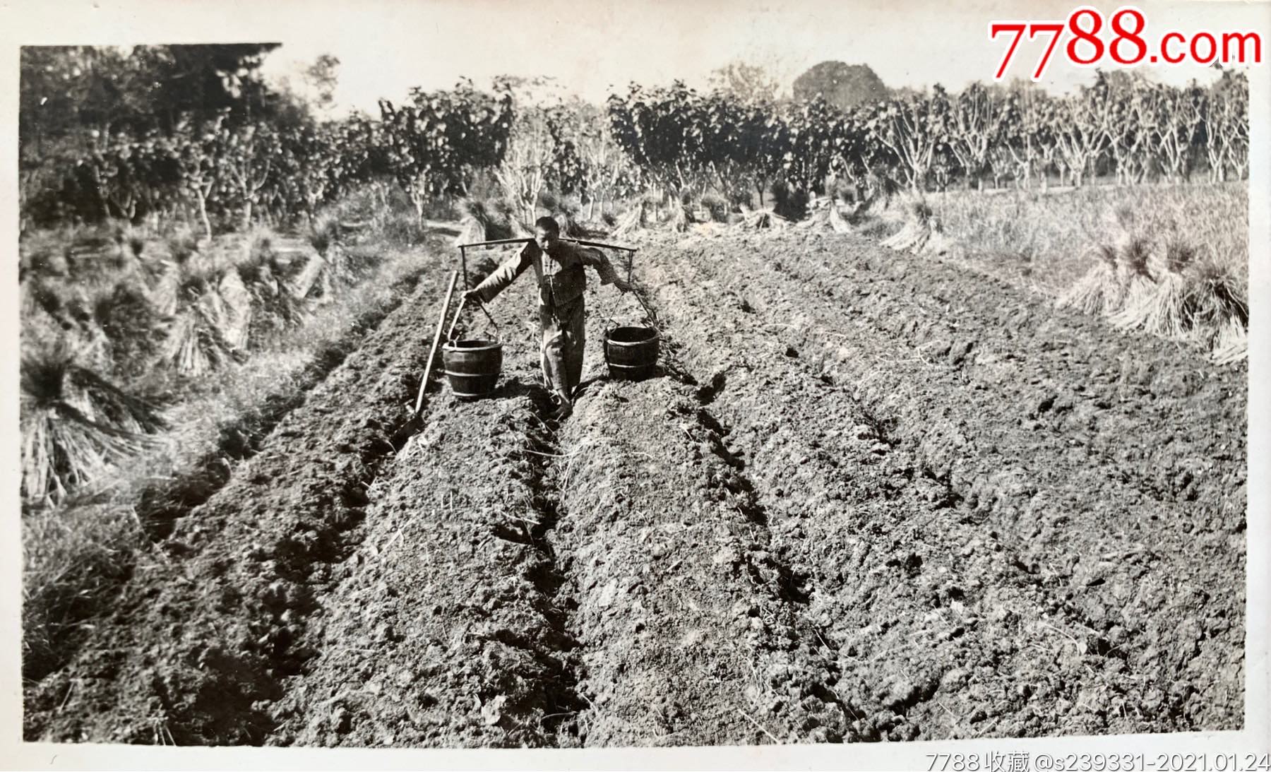
M 183 123 L 305 121 L 259 76 L 276 43 L 27 46 L 22 48 L 19 182 L 23 221 L 133 217 L 169 186 Z M 150 159 L 150 160 L 146 160 Z M 168 159 L 168 160 L 163 160 Z M 158 176 L 147 179 L 145 169 Z

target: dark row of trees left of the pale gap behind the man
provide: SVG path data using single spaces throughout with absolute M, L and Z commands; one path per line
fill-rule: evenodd
M 502 162 L 506 86 L 414 89 L 402 106 L 381 102 L 379 120 L 319 122 L 313 99 L 262 81 L 271 48 L 23 48 L 24 226 L 183 212 L 211 235 L 214 223 L 311 217 L 371 179 L 395 179 L 422 217 L 427 200 L 466 193 L 480 169 Z M 336 65 L 322 57 L 310 67 L 319 92 Z

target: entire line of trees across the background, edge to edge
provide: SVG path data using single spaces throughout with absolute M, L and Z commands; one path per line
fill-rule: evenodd
M 533 220 L 544 191 L 594 207 L 651 188 L 735 201 L 774 186 L 821 193 L 835 178 L 860 190 L 881 179 L 943 188 L 1045 184 L 1055 173 L 1082 184 L 1096 174 L 1138 183 L 1248 172 L 1248 85 L 1232 72 L 1209 88 L 1101 72 L 1065 97 L 980 84 L 897 94 L 878 92 L 880 81 L 855 90 L 883 98 L 844 100 L 834 89 L 850 79 L 810 71 L 799 81 L 807 98 L 775 102 L 771 83 L 735 71 L 705 94 L 632 85 L 602 108 L 502 78 L 489 92 L 469 81 L 414 89 L 402 104 L 381 100 L 377 120 L 318 122 L 261 83 L 268 48 L 24 48 L 24 220 L 187 212 L 211 234 L 214 221 L 313 216 L 371 179 L 395 181 L 422 219 L 428 201 L 469 195 L 486 176 Z M 332 81 L 337 64 L 315 64 L 318 80 Z M 173 79 L 200 84 L 196 98 L 169 88 Z M 808 90 L 822 80 L 833 100 Z M 150 99 L 137 98 L 147 81 Z

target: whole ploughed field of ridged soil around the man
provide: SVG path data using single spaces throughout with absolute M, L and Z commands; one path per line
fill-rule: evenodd
M 498 393 L 435 387 L 394 432 L 422 287 L 178 523 L 28 739 L 1239 726 L 1243 369 L 853 237 L 653 243 L 639 273 L 660 378 L 602 378 L 634 314 L 592 287 L 592 382 L 549 420 L 521 281 Z

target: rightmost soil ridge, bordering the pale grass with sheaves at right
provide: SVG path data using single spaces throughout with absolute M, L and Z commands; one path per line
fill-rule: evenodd
M 1000 280 L 862 247 L 857 237 L 827 238 L 769 263 L 989 388 L 1028 384 L 1023 398 L 1037 429 L 1085 448 L 1144 493 L 1225 497 L 1243 511 L 1243 500 L 1227 495 L 1243 472 L 1243 436 L 1210 430 L 1243 424 L 1243 368 L 1214 368 L 1187 346 L 1115 333 Z M 1178 421 L 1181 413 L 1188 420 Z

